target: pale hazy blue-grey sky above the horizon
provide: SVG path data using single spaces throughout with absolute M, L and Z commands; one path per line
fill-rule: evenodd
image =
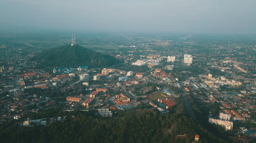
M 0 26 L 256 33 L 256 0 L 0 0 Z

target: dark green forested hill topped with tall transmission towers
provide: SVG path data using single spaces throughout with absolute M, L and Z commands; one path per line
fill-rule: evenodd
M 79 45 L 65 45 L 44 50 L 32 59 L 39 67 L 79 67 L 87 65 L 90 68 L 109 67 L 119 61 L 111 55 L 102 54 Z

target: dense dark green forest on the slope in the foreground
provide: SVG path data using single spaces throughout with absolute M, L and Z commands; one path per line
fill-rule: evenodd
M 182 103 L 172 108 L 169 115 L 145 109 L 119 111 L 114 118 L 80 111 L 48 110 L 40 114 L 36 117 L 49 117 L 49 114 L 69 118 L 49 126 L 1 125 L 0 142 L 192 142 L 196 134 L 201 135 L 198 142 L 227 142 L 189 118 Z

